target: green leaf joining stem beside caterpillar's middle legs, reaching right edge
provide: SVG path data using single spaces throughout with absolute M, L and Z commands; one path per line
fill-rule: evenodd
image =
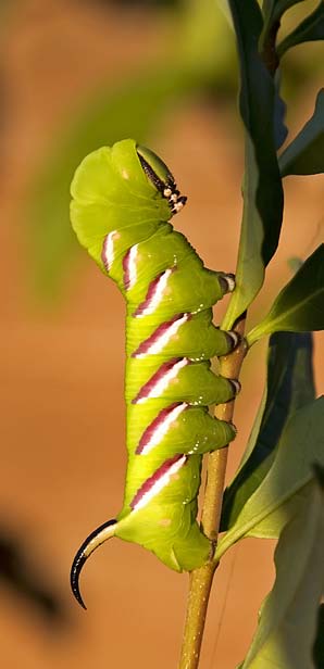
M 279 292 L 267 316 L 249 332 L 249 345 L 272 332 L 323 330 L 323 304 L 324 244 L 321 244 Z

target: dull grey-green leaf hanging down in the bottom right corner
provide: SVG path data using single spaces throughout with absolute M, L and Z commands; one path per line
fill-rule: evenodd
M 312 479 L 275 551 L 276 578 L 242 669 L 311 669 L 324 586 L 324 495 Z

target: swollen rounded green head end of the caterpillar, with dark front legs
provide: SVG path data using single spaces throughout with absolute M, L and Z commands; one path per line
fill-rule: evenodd
M 126 247 L 147 239 L 185 204 L 170 169 L 149 149 L 123 139 L 89 153 L 71 185 L 71 222 L 79 243 L 102 270 L 102 245 L 111 232 Z M 125 247 L 125 250 L 126 250 Z

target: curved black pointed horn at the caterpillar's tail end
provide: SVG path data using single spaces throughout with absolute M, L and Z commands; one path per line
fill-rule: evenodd
M 79 590 L 79 575 L 83 569 L 85 561 L 88 557 L 100 546 L 104 541 L 114 537 L 117 521 L 115 519 L 107 520 L 103 525 L 100 525 L 99 528 L 94 530 L 89 537 L 84 541 L 77 551 L 75 558 L 72 563 L 71 573 L 70 573 L 70 583 L 72 588 L 72 592 L 76 598 L 76 601 L 82 605 L 83 608 L 87 608 Z

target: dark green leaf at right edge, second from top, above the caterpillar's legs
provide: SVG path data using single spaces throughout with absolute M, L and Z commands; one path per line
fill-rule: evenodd
M 313 116 L 279 156 L 283 177 L 324 172 L 324 88 L 317 94 Z

